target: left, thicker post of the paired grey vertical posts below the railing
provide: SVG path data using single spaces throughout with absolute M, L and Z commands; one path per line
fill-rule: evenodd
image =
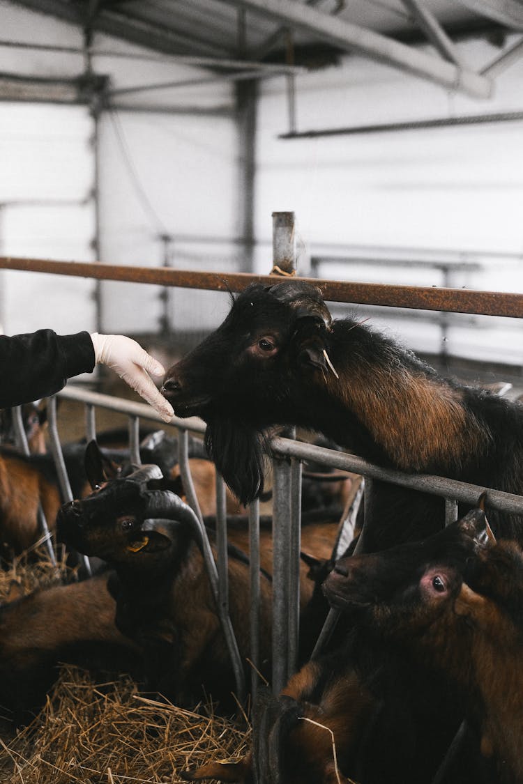
M 289 460 L 275 458 L 273 474 L 272 688 L 277 695 L 285 686 L 289 672 Z

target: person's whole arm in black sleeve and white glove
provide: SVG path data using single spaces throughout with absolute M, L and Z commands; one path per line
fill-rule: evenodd
M 39 329 L 27 335 L 0 336 L 0 408 L 49 397 L 72 376 L 92 372 L 97 363 L 112 368 L 169 422 L 173 407 L 148 376 L 148 372 L 163 375 L 161 363 L 136 340 L 97 332 L 60 336 L 51 329 Z

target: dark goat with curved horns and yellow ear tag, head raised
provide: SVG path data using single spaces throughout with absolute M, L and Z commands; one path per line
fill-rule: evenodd
M 93 445 L 88 455 L 96 458 Z M 125 478 L 91 481 L 101 489 L 66 504 L 57 517 L 59 535 L 76 550 L 114 568 L 118 629 L 145 659 L 148 688 L 179 704 L 203 693 L 234 707 L 234 678 L 204 558 L 194 534 L 194 515 L 163 484 L 157 466 Z M 245 662 L 249 655 L 249 559 L 229 558 L 231 622 Z M 271 579 L 260 580 L 260 659 L 271 658 Z

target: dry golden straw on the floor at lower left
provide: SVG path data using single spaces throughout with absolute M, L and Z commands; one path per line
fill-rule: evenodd
M 64 562 L 60 571 L 67 570 Z M 49 561 L 15 561 L 2 573 L 0 598 L 16 580 L 27 593 L 56 583 Z M 182 710 L 140 694 L 128 676 L 96 683 L 64 665 L 45 706 L 27 728 L 0 735 L 0 781 L 5 784 L 133 784 L 177 782 L 179 771 L 246 753 L 245 724 L 212 706 Z

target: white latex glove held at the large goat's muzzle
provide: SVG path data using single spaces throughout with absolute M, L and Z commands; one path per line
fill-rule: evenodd
M 101 362 L 118 373 L 131 389 L 158 411 L 164 422 L 169 422 L 174 414 L 173 406 L 159 393 L 148 376 L 148 373 L 153 376 L 163 376 L 165 374 L 163 365 L 153 359 L 151 354 L 147 354 L 136 340 L 124 335 L 100 335 L 98 332 L 93 332 L 91 339 L 96 364 Z

